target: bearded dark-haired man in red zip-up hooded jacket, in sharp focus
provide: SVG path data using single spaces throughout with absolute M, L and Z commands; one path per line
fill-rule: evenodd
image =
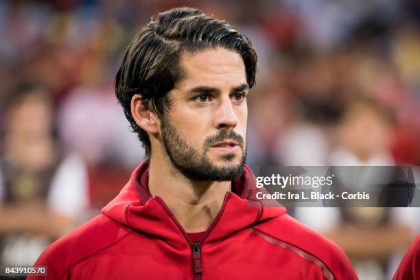
M 49 279 L 357 279 L 335 244 L 253 196 L 256 62 L 246 36 L 199 10 L 141 28 L 115 86 L 147 160 L 101 215 L 40 256 Z

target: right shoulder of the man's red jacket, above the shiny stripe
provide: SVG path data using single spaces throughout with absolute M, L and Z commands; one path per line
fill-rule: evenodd
M 334 242 L 310 229 L 288 214 L 253 228 L 268 242 L 279 242 L 301 257 L 327 269 L 335 279 L 358 279 L 345 253 Z

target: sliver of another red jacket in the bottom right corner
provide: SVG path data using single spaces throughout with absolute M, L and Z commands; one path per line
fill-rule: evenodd
M 404 254 L 393 279 L 420 280 L 420 234 Z

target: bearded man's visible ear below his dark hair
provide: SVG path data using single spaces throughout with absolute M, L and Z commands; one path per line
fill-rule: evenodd
M 131 115 L 137 126 L 145 132 L 154 134 L 159 132 L 159 119 L 152 110 L 143 105 L 143 97 L 135 94 L 131 98 Z

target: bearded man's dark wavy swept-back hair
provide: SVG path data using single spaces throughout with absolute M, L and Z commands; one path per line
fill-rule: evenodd
M 141 27 L 126 50 L 115 77 L 115 95 L 132 130 L 137 133 L 149 159 L 151 147 L 147 132 L 137 126 L 131 114 L 132 96 L 140 93 L 143 105 L 152 106 L 156 115 L 163 117 L 170 108 L 167 93 L 182 78 L 179 66 L 184 51 L 223 47 L 242 56 L 246 80 L 255 84 L 257 54 L 250 40 L 229 23 L 204 14 L 194 8 L 174 8 L 161 12 Z

